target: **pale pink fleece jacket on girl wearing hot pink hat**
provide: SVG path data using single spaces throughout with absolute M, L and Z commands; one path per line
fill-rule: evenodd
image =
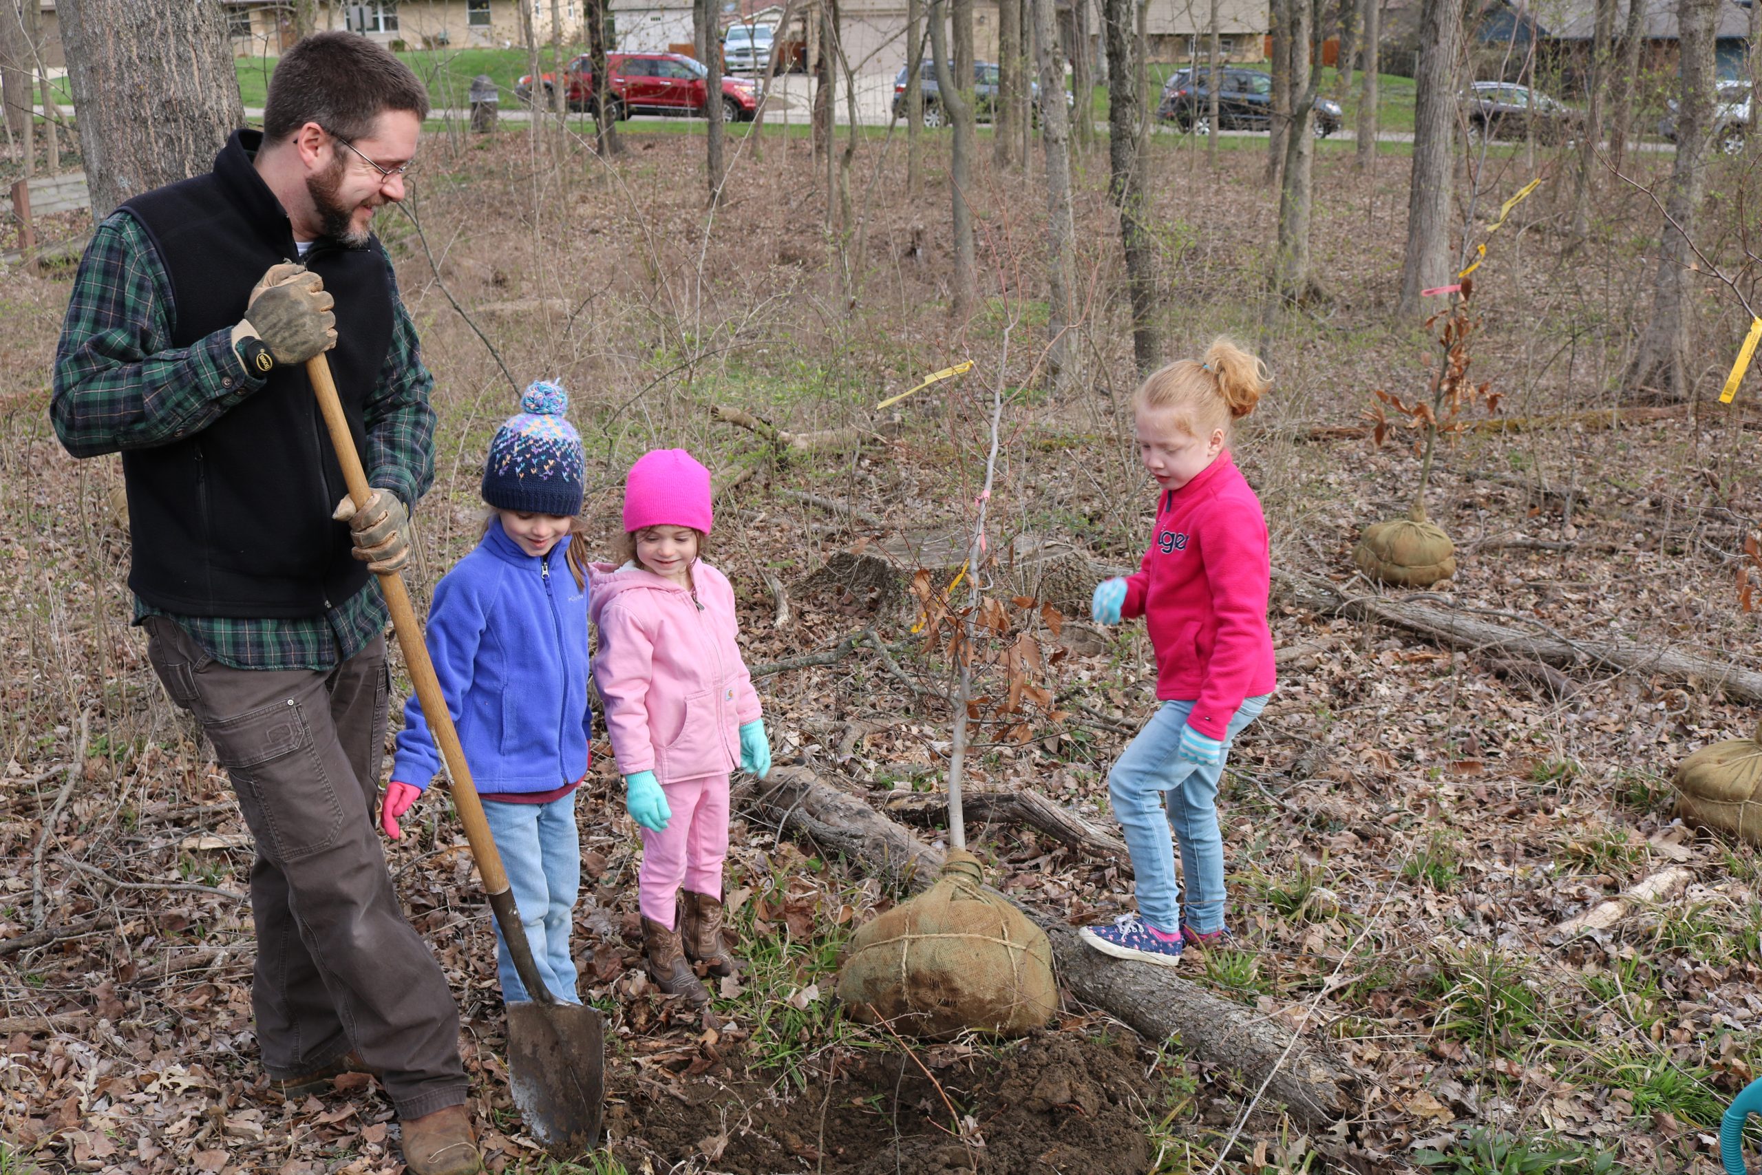
M 735 588 L 703 560 L 691 574 L 696 592 L 643 567 L 589 567 L 594 684 L 620 775 L 726 775 L 740 765 L 740 728 L 759 717 L 735 641 Z

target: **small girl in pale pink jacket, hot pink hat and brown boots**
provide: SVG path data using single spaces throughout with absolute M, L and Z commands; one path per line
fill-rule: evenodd
M 645 453 L 624 483 L 624 565 L 589 574 L 594 682 L 641 824 L 648 976 L 696 1008 L 710 994 L 691 964 L 740 969 L 722 942 L 728 775 L 770 773 L 759 696 L 735 643 L 735 590 L 698 558 L 710 521 L 710 470 L 684 449 Z

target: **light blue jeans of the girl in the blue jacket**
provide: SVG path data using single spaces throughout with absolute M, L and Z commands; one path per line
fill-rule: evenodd
M 574 793 L 550 803 L 500 803 L 485 800 L 483 816 L 495 837 L 495 849 L 507 870 L 507 886 L 520 907 L 520 925 L 527 928 L 532 962 L 550 994 L 567 1004 L 580 1004 L 574 994 L 574 960 L 569 957 L 569 928 L 574 923 L 574 895 L 581 888 L 581 839 L 574 830 Z M 502 1001 L 529 1001 L 525 985 L 515 972 L 515 958 L 495 927 L 495 967 L 502 979 Z

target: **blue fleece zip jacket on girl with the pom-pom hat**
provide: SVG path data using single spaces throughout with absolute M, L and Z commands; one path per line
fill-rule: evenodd
M 587 773 L 587 592 L 564 562 L 569 541 L 534 558 L 492 518 L 478 550 L 435 585 L 428 655 L 485 794 L 552 791 Z M 391 779 L 426 789 L 439 770 L 412 696 Z

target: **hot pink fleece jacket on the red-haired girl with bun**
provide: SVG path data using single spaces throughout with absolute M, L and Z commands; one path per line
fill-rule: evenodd
M 1119 615 L 1145 617 L 1156 648 L 1156 696 L 1193 701 L 1188 726 L 1223 738 L 1247 698 L 1277 678 L 1267 590 L 1267 518 L 1230 451 L 1163 493 L 1156 539 L 1126 580 Z

